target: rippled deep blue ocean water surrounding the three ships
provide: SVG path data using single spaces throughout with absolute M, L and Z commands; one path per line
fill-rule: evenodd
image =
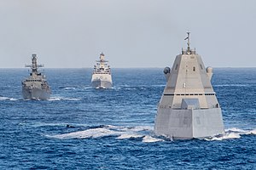
M 174 141 L 153 132 L 163 69 L 113 69 L 112 89 L 91 71 L 45 69 L 52 96 L 35 101 L 27 69 L 0 69 L 0 169 L 256 169 L 256 68 L 213 70 L 223 136 Z

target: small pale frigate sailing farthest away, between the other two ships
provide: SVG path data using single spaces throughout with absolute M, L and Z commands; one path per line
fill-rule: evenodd
M 110 66 L 108 60 L 105 60 L 104 57 L 104 54 L 100 54 L 100 60 L 96 60 L 96 65 L 94 65 L 91 77 L 92 88 L 112 88 Z

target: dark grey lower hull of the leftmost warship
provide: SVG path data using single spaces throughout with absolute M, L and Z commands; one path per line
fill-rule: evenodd
M 22 95 L 24 99 L 49 99 L 50 92 L 40 88 L 22 88 Z

